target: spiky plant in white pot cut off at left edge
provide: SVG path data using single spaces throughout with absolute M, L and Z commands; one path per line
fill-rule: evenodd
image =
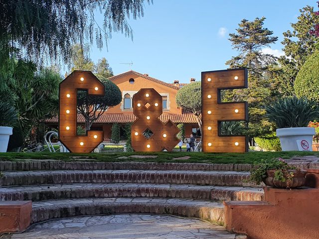
M 6 152 L 13 124 L 17 120 L 15 109 L 8 103 L 0 103 L 0 152 Z

